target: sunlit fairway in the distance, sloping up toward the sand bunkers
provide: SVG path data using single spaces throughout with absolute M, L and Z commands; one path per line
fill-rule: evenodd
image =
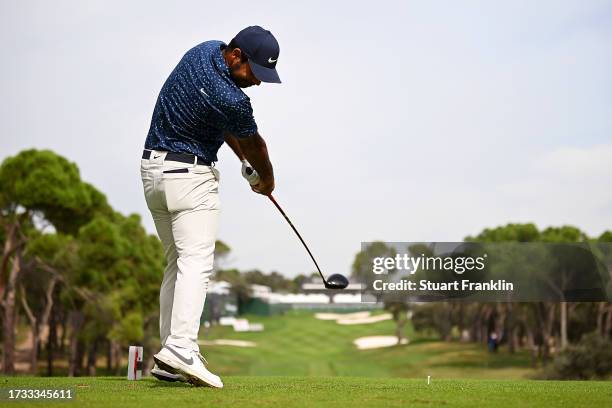
M 393 321 L 339 325 L 313 313 L 247 316 L 261 322 L 263 332 L 234 332 L 231 327 L 204 329 L 200 338 L 248 340 L 256 347 L 202 346 L 210 369 L 220 375 L 358 376 L 427 378 L 521 379 L 533 375 L 530 357 L 522 351 L 491 354 L 482 344 L 442 342 L 418 337 L 408 325 L 410 344 L 357 350 L 353 340 L 393 335 Z M 145 353 L 147 350 L 145 350 Z

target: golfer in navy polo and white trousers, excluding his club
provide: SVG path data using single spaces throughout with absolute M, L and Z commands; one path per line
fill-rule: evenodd
M 159 296 L 161 350 L 152 370 L 158 379 L 223 387 L 198 347 L 220 210 L 214 163 L 226 142 L 253 191 L 274 190 L 266 144 L 241 88 L 280 83 L 279 51 L 272 33 L 259 26 L 227 45 L 206 41 L 183 56 L 157 98 L 141 175 L 167 260 Z

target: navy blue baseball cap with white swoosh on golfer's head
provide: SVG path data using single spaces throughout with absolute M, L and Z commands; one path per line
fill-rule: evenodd
M 236 34 L 232 41 L 249 57 L 251 71 L 257 79 L 281 83 L 276 72 L 280 47 L 271 32 L 260 26 L 250 26 Z

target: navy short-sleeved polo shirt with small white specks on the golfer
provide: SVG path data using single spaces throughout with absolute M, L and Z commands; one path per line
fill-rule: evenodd
M 239 138 L 257 132 L 251 101 L 232 81 L 224 47 L 206 41 L 183 56 L 159 93 L 145 149 L 217 161 L 223 131 Z

